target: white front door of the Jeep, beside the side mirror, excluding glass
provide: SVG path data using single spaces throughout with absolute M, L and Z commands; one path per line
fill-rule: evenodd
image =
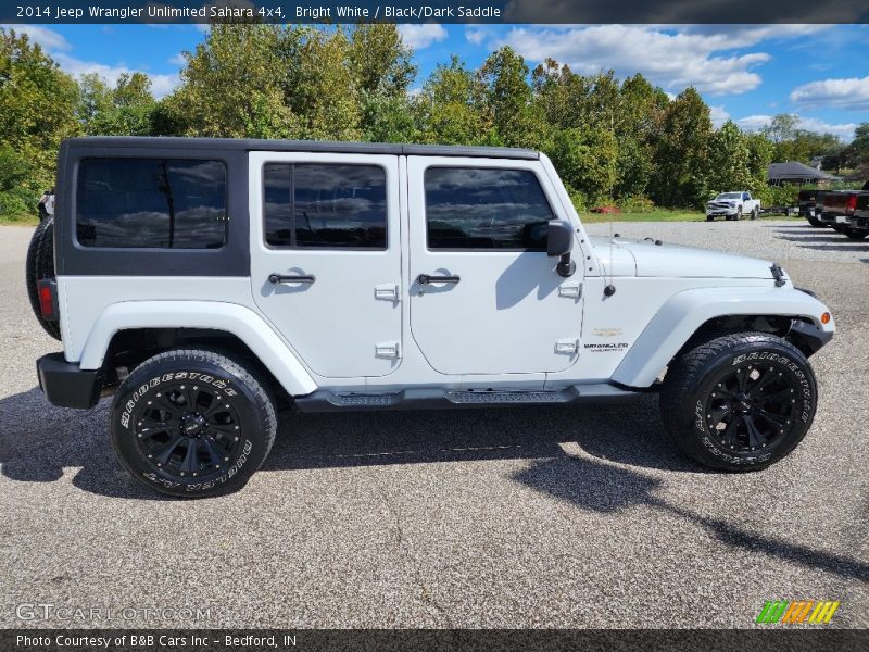
M 568 368 L 581 351 L 581 262 L 574 276 L 563 278 L 555 272 L 557 259 L 541 251 L 429 249 L 424 183 L 429 167 L 530 171 L 553 217 L 567 220 L 538 162 L 408 158 L 411 330 L 429 364 L 451 375 Z M 421 279 L 428 283 L 419 275 L 429 276 Z

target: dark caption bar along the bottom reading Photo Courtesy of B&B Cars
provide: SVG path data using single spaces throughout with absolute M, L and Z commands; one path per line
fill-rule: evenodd
M 869 643 L 866 629 L 827 625 L 761 629 L 449 630 L 449 629 L 4 629 L 0 650 L 15 652 L 633 652 L 853 651 Z M 25 641 L 22 637 L 25 637 Z M 148 638 L 150 637 L 150 638 Z M 42 642 L 35 642 L 41 640 Z M 74 641 L 81 641 L 75 644 Z M 108 644 L 106 642 L 108 641 Z

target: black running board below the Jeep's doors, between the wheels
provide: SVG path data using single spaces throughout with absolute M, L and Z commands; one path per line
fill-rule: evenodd
M 574 385 L 558 390 L 461 390 L 405 389 L 393 393 L 345 393 L 318 389 L 297 397 L 302 412 L 351 412 L 375 410 L 440 410 L 503 405 L 563 405 L 609 403 L 644 396 L 646 391 L 610 383 Z

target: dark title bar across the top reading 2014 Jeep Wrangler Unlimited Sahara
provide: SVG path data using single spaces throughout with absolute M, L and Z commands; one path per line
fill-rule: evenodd
M 869 0 L 10 0 L 0 4 L 0 23 L 12 24 L 869 22 Z

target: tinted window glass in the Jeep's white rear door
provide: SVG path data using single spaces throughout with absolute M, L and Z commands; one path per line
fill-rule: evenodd
M 268 164 L 265 240 L 272 247 L 386 249 L 387 174 L 378 165 Z

